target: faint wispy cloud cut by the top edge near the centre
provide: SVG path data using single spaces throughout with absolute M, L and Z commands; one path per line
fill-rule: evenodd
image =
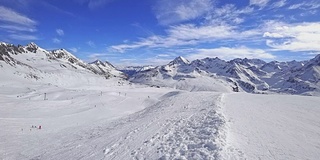
M 154 10 L 162 25 L 195 19 L 212 10 L 211 0 L 159 0 Z

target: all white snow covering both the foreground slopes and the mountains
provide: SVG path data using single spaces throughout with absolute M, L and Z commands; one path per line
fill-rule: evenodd
M 0 61 L 0 159 L 320 156 L 319 97 L 232 93 L 235 83 L 263 87 L 261 79 L 269 79 L 276 91 L 306 95 L 319 87 L 309 82 L 319 78 L 319 56 L 290 74 L 261 71 L 267 63 L 259 60 L 178 57 L 171 66 L 142 68 L 135 84 L 107 62 L 86 64 L 65 50 L 55 51 L 67 56 L 60 59 L 33 51 Z

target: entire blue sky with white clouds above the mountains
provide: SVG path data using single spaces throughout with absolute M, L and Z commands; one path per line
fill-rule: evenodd
M 0 41 L 118 65 L 305 60 L 320 53 L 320 1 L 0 0 Z

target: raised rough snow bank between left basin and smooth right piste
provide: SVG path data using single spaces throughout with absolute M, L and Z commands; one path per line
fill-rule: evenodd
M 100 123 L 31 159 L 220 159 L 223 94 L 170 92 L 146 109 Z

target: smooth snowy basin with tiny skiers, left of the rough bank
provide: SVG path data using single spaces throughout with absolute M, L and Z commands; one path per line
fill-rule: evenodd
M 163 94 L 162 89 L 130 90 L 130 87 L 133 86 L 89 86 L 85 87 L 87 89 L 32 86 L 32 90 L 1 87 L 0 157 L 31 159 L 54 152 L 52 149 L 66 150 L 68 148 L 61 145 L 68 140 L 87 136 L 85 132 L 97 129 L 102 122 L 108 124 L 109 121 L 142 110 Z M 44 100 L 44 92 L 48 100 Z M 42 129 L 31 128 L 32 125 L 41 125 Z

